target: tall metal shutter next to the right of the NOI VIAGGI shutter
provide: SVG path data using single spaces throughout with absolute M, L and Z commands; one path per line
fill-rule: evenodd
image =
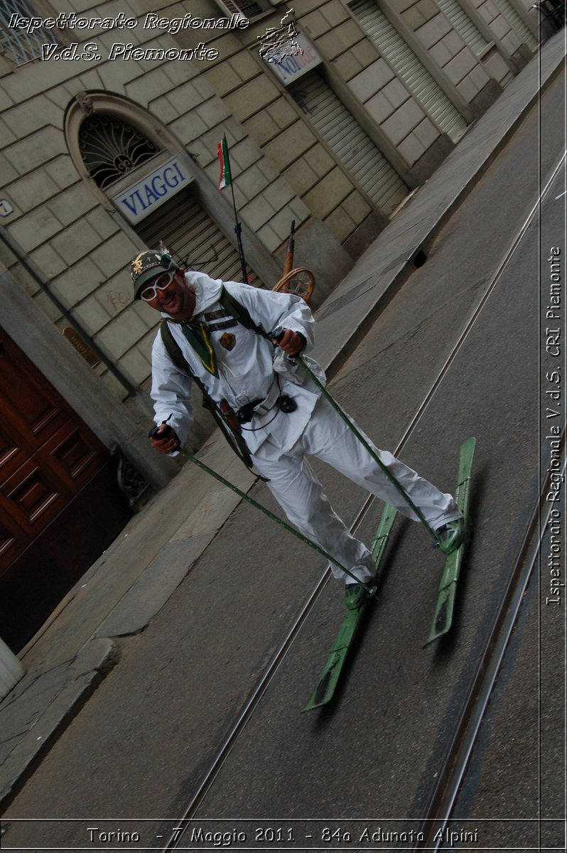
M 466 131 L 466 120 L 374 0 L 356 0 L 350 9 L 425 113 L 452 142 L 458 142 Z

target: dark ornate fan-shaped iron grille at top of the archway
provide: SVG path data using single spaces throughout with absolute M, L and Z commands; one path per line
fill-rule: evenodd
M 124 119 L 93 113 L 81 122 L 78 147 L 98 187 L 107 189 L 162 148 Z

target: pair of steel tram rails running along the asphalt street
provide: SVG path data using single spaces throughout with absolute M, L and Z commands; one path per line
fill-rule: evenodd
M 477 300 L 477 304 L 468 317 L 459 337 L 454 342 L 454 345 L 448 353 L 443 366 L 437 372 L 435 380 L 431 383 L 430 388 L 425 393 L 421 403 L 419 403 L 419 407 L 415 410 L 414 415 L 402 433 L 402 438 L 400 438 L 398 444 L 396 444 L 396 448 L 393 451 L 396 456 L 401 453 L 409 439 L 414 434 L 419 421 L 421 421 L 422 417 L 425 415 L 425 411 L 431 404 L 438 387 L 443 382 L 449 369 L 453 365 L 454 360 L 459 355 L 463 345 L 466 343 L 466 339 L 469 334 L 471 334 L 472 328 L 474 328 L 478 317 L 481 315 L 485 305 L 489 301 L 491 294 L 494 293 L 495 288 L 498 286 L 500 278 L 506 270 L 506 266 L 510 263 L 526 231 L 529 229 L 530 224 L 533 223 L 536 214 L 541 209 L 541 203 L 549 192 L 558 172 L 564 166 L 566 157 L 567 152 L 564 152 L 553 169 L 551 176 L 547 179 L 545 186 L 540 189 L 534 206 L 529 211 L 528 216 L 524 219 L 524 223 L 520 229 L 518 229 L 516 236 L 512 240 L 503 258 L 500 260 L 500 264 L 495 270 L 495 273 L 490 277 L 487 287 L 485 287 L 480 298 Z M 562 448 L 562 452 L 564 453 L 564 432 L 562 433 Z M 542 488 L 543 487 L 541 487 L 541 489 Z M 489 703 L 490 694 L 492 693 L 495 685 L 495 679 L 497 677 L 501 661 L 506 652 L 506 647 L 510 639 L 510 635 L 512 634 L 513 626 L 518 617 L 524 591 L 529 583 L 529 578 L 531 577 L 537 561 L 542 531 L 545 530 L 546 525 L 546 521 L 543 518 L 544 506 L 542 497 L 543 492 L 541 490 L 529 516 L 529 523 L 524 529 L 524 537 L 518 546 L 518 552 L 512 561 L 512 571 L 510 572 L 506 589 L 500 599 L 500 606 L 497 609 L 495 619 L 485 641 L 483 653 L 480 656 L 477 670 L 472 676 L 470 686 L 466 691 L 465 699 L 461 705 L 454 737 L 452 738 L 446 755 L 443 758 L 443 765 L 437 775 L 435 787 L 431 791 L 431 796 L 425 809 L 425 815 L 422 819 L 422 832 L 425 834 L 426 840 L 425 842 L 419 842 L 414 847 L 414 850 L 437 850 L 439 842 L 437 842 L 437 846 L 432 846 L 434 842 L 432 841 L 432 833 L 430 832 L 431 824 L 435 821 L 437 832 L 439 821 L 443 821 L 444 826 L 450 819 L 451 809 L 454 806 L 454 801 L 463 775 L 466 771 L 466 765 L 471 756 L 472 748 L 477 738 L 484 712 L 486 711 Z M 360 525 L 362 525 L 362 521 L 366 518 L 368 512 L 373 507 L 375 500 L 376 499 L 373 496 L 367 496 L 365 501 L 362 503 L 362 506 L 356 512 L 355 518 L 351 522 L 351 532 L 356 532 Z M 539 536 L 536 535 L 538 531 Z M 223 743 L 217 749 L 216 755 L 212 759 L 209 769 L 207 769 L 205 775 L 202 776 L 199 786 L 188 802 L 183 814 L 178 819 L 183 826 L 188 825 L 188 822 L 194 818 L 197 809 L 199 809 L 200 805 L 205 800 L 207 793 L 214 785 L 217 775 L 223 769 L 223 765 L 229 757 L 236 740 L 238 740 L 240 734 L 244 728 L 246 728 L 247 723 L 250 722 L 254 711 L 256 711 L 257 706 L 260 704 L 263 696 L 267 692 L 269 684 L 272 682 L 276 672 L 279 670 L 283 660 L 286 658 L 286 654 L 289 652 L 293 642 L 296 640 L 299 632 L 303 628 L 305 621 L 309 618 L 310 613 L 314 610 L 315 605 L 323 589 L 325 589 L 330 577 L 330 566 L 327 566 L 327 569 L 315 584 L 314 589 L 312 589 L 307 601 L 305 601 L 304 607 L 298 614 L 298 617 L 287 631 L 280 647 L 276 650 L 272 659 L 269 661 L 269 664 L 263 671 L 263 674 L 257 680 L 255 687 L 252 689 L 248 699 L 246 699 L 246 703 L 241 708 L 238 717 L 234 720 L 229 733 L 225 736 Z M 162 848 L 162 853 L 182 849 L 182 839 L 183 833 L 171 833 L 171 837 L 167 844 Z

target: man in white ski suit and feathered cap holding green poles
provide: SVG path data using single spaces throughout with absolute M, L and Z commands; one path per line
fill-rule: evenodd
M 315 322 L 308 305 L 290 294 L 214 280 L 201 272 L 182 272 L 161 252 L 137 255 L 132 261 L 131 276 L 135 299 L 142 297 L 168 319 L 182 356 L 213 400 L 227 401 L 242 418 L 251 416 L 250 421 L 242 423 L 242 434 L 252 462 L 267 479 L 269 490 L 292 525 L 356 578 L 367 582 L 375 570 L 372 555 L 335 514 L 305 456 L 328 462 L 400 513 L 414 520 L 417 516 L 313 380 L 293 360 L 292 356 L 299 352 L 303 356 L 314 343 Z M 276 344 L 231 316 L 220 302 L 223 287 L 265 333 L 283 329 L 280 341 Z M 321 368 L 310 359 L 306 361 L 324 382 Z M 153 342 L 152 367 L 154 420 L 160 426 L 151 441 L 156 450 L 175 455 L 192 422 L 193 380 L 173 363 L 161 334 Z M 447 531 L 456 547 L 462 531 L 459 528 L 455 533 L 455 524 L 448 524 L 460 525 L 460 511 L 453 497 L 419 477 L 391 453 L 375 452 L 431 528 Z M 362 587 L 353 585 L 352 578 L 338 566 L 333 565 L 332 569 L 335 577 L 344 577 L 349 606 L 357 606 Z

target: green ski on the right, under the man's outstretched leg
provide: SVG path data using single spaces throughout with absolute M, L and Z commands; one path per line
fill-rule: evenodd
M 453 622 L 454 611 L 454 596 L 457 589 L 457 581 L 459 579 L 460 567 L 463 564 L 466 551 L 466 539 L 469 526 L 469 502 L 470 502 L 470 485 L 472 471 L 472 457 L 474 456 L 476 438 L 467 438 L 466 442 L 460 446 L 459 458 L 459 477 L 458 484 L 455 490 L 455 501 L 460 508 L 461 513 L 465 517 L 465 538 L 459 548 L 449 554 L 445 560 L 443 575 L 439 583 L 439 595 L 437 598 L 437 607 L 435 608 L 435 616 L 431 625 L 430 635 L 427 637 L 423 647 L 429 644 L 438 637 L 446 634 Z

